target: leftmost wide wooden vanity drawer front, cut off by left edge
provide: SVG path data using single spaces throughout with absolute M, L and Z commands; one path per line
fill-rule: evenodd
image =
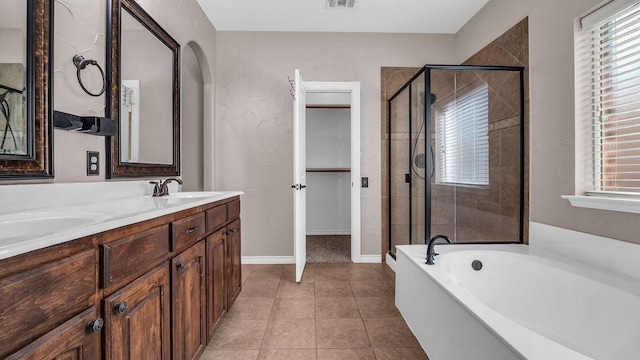
M 0 280 L 0 358 L 95 303 L 95 250 Z

